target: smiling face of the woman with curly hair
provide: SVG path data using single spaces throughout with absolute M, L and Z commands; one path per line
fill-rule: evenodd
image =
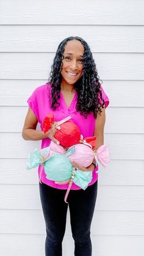
M 62 82 L 68 85 L 74 84 L 82 76 L 82 56 L 84 46 L 78 40 L 71 40 L 65 45 L 62 60 Z

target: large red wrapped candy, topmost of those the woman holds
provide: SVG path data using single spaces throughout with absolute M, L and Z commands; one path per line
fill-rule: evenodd
M 68 121 L 71 116 L 59 121 L 54 121 L 54 115 L 48 114 L 42 123 L 44 133 L 52 131 L 54 137 L 60 142 L 63 147 L 71 147 L 79 143 L 81 140 L 81 133 L 77 125 Z

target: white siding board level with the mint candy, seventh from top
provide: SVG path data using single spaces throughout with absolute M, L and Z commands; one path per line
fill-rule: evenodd
M 37 185 L 37 169 L 27 172 L 27 159 L 1 159 L 0 184 Z M 99 170 L 99 185 L 143 185 L 144 161 L 111 160 L 106 170 Z M 9 175 L 8 175 L 9 174 Z M 137 178 L 135 178 L 137 177 Z

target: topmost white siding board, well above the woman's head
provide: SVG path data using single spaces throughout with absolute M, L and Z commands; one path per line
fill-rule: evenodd
M 19 4 L 17 4 L 19 2 Z M 79 17 L 77 19 L 77 17 Z M 143 1 L 5 1 L 1 24 L 144 24 Z

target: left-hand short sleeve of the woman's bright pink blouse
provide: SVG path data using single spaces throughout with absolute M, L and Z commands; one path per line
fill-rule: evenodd
M 32 109 L 35 116 L 37 117 L 38 122 L 40 123 L 40 115 L 37 102 L 37 89 L 35 89 L 32 95 L 28 98 L 27 103 L 29 104 L 29 107 Z

